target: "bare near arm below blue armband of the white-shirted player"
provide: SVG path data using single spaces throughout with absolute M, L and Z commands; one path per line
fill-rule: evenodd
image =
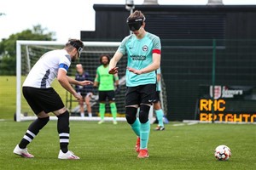
M 66 71 L 59 69 L 57 80 L 60 82 L 61 86 L 65 88 L 69 93 L 73 94 L 73 96 L 76 99 L 79 99 L 79 100 L 82 99 L 82 96 L 76 93 L 76 91 L 72 88 L 72 86 L 68 82 Z

